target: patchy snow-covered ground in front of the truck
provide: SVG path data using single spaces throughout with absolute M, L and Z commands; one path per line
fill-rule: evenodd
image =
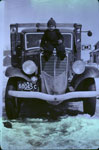
M 52 122 L 29 118 L 10 122 L 11 129 L 2 124 L 4 150 L 99 148 L 99 120 L 89 115 L 64 116 Z

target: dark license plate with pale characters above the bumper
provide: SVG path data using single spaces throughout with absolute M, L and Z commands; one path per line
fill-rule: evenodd
M 18 90 L 23 91 L 37 91 L 38 87 L 32 82 L 18 82 Z

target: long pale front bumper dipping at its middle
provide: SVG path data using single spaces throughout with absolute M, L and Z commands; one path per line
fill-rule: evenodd
M 99 98 L 99 91 L 76 91 L 69 92 L 61 95 L 50 95 L 42 92 L 28 92 L 28 91 L 14 91 L 9 90 L 8 94 L 17 98 L 35 98 L 44 101 L 55 102 L 55 101 L 66 101 L 74 98 Z

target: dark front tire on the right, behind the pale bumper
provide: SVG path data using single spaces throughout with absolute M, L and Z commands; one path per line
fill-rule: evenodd
M 95 91 L 95 90 L 96 90 L 95 83 L 91 83 L 87 87 L 87 91 Z M 83 110 L 84 110 L 84 113 L 93 116 L 96 111 L 96 97 L 87 98 L 83 100 Z

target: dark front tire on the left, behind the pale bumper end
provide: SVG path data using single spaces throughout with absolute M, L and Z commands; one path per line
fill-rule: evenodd
M 9 90 L 16 90 L 17 82 L 16 80 L 9 79 L 5 92 L 5 110 L 8 119 L 17 119 L 19 116 L 20 104 L 18 99 L 8 95 Z

